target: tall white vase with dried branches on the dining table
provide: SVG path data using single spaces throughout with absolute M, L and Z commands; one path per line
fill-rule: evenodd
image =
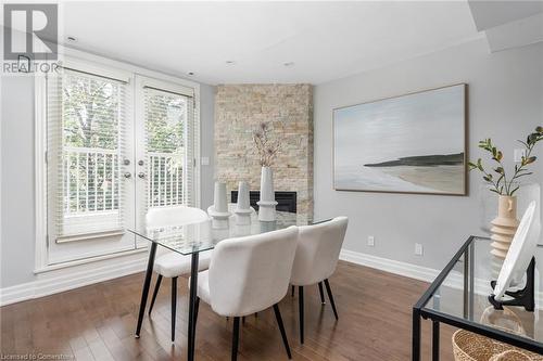
M 253 142 L 262 167 L 261 199 L 256 203 L 258 205 L 258 219 L 274 221 L 277 202 L 275 201 L 272 163 L 280 150 L 281 143 L 268 123 L 261 123 L 258 128 L 253 131 Z

